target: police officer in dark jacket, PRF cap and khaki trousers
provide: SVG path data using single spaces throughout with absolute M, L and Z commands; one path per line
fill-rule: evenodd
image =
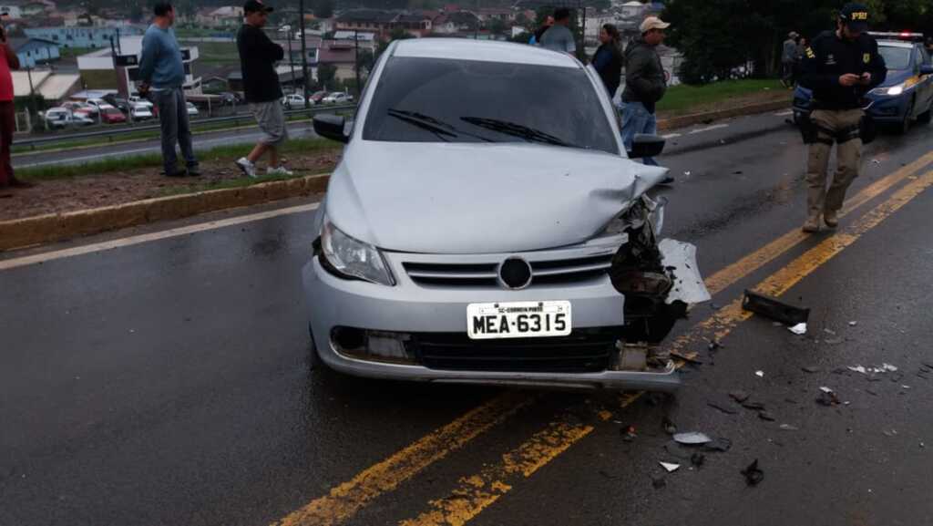
M 845 191 L 858 177 L 862 141 L 862 98 L 887 76 L 878 43 L 869 36 L 869 11 L 862 4 L 842 7 L 835 31 L 814 38 L 804 51 L 801 85 L 814 93 L 807 161 L 807 220 L 803 232 L 819 230 L 820 217 L 830 228 L 839 224 Z M 836 173 L 827 190 L 829 153 L 836 143 Z

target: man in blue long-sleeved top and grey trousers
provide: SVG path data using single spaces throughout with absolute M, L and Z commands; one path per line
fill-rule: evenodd
M 143 36 L 143 52 L 139 59 L 139 93 L 149 94 L 159 110 L 162 135 L 162 163 L 170 178 L 200 176 L 198 160 L 191 146 L 191 127 L 188 123 L 188 103 L 182 86 L 185 84 L 185 64 L 175 39 L 175 11 L 172 4 L 157 2 L 156 15 Z M 177 166 L 175 143 L 185 158 L 187 170 Z

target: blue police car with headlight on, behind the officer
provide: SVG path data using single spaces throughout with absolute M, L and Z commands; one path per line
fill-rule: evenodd
M 896 124 L 906 133 L 912 121 L 929 122 L 933 113 L 933 62 L 920 33 L 874 33 L 887 78 L 866 95 L 867 112 L 879 123 Z M 809 115 L 813 93 L 800 85 L 794 91 L 794 121 Z

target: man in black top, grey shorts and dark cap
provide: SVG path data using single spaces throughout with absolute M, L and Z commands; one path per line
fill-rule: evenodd
M 272 7 L 261 0 L 247 0 L 243 7 L 246 21 L 236 36 L 236 47 L 240 50 L 240 66 L 243 68 L 243 86 L 246 102 L 264 134 L 256 147 L 236 165 L 250 178 L 258 177 L 256 162 L 267 151 L 269 166 L 266 175 L 293 175 L 279 160 L 278 147 L 288 138 L 285 128 L 285 110 L 279 100 L 282 86 L 275 73 L 274 63 L 285 57 L 282 46 L 275 44 L 262 28 L 269 19 Z

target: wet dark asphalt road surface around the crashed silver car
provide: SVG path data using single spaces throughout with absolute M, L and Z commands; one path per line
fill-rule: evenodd
M 683 131 L 661 157 L 677 179 L 661 191 L 670 199 L 665 235 L 695 243 L 707 277 L 801 223 L 804 152 L 783 120 Z M 915 128 L 870 145 L 850 195 L 927 154 L 930 133 Z M 843 218 L 843 232 L 930 169 L 902 174 Z M 807 250 L 829 234 L 787 249 L 729 280 L 671 340 L 780 272 L 799 279 L 784 297 L 813 309 L 807 335 L 756 317 L 734 323 L 713 353 L 695 338 L 688 349 L 703 364 L 683 369 L 672 398 L 625 405 L 614 393 L 506 391 L 527 403 L 396 486 L 351 494 L 355 504 L 335 505 L 351 513 L 330 523 L 445 523 L 431 515 L 439 511 L 480 525 L 926 523 L 931 207 L 933 193 L 919 192 L 805 275 L 795 265 L 812 262 Z M 313 213 L 0 270 L 0 525 L 269 524 L 503 396 L 310 371 L 299 269 Z M 881 363 L 898 371 L 844 369 Z M 815 404 L 820 386 L 848 404 Z M 774 421 L 731 403 L 734 390 Z M 694 451 L 664 448 L 663 417 L 728 438 L 731 448 L 704 453 L 703 466 L 690 469 Z M 553 454 L 532 450 L 527 476 L 495 472 L 516 458 L 503 455 L 524 451 L 555 421 L 592 429 Z M 636 436 L 625 441 L 629 426 Z M 764 480 L 750 488 L 739 471 L 755 459 Z M 660 461 L 681 467 L 664 475 Z M 466 502 L 451 498 L 464 494 Z

